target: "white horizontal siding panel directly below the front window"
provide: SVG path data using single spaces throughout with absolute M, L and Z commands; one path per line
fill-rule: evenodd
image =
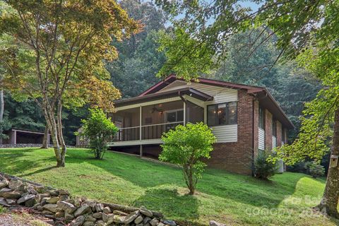
M 212 133 L 217 138 L 217 143 L 237 142 L 238 125 L 211 126 Z

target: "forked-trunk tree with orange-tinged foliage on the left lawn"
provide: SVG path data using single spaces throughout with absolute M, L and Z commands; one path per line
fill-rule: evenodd
M 7 64 L 4 86 L 35 100 L 52 135 L 57 166 L 64 167 L 66 143 L 62 109 L 86 102 L 112 110 L 119 90 L 108 81 L 103 59 L 112 61 L 121 40 L 138 30 L 138 23 L 113 0 L 6 1 L 0 32 L 16 46 Z M 7 50 L 12 50 L 8 47 Z M 1 54 L 6 59 L 6 54 Z M 15 70 L 14 70 L 15 69 Z

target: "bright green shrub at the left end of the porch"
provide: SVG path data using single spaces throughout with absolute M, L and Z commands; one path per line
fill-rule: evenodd
M 88 119 L 81 120 L 83 123 L 83 132 L 77 135 L 88 138 L 90 148 L 96 159 L 102 159 L 108 148 L 107 142 L 117 133 L 117 126 L 112 123 L 111 118 L 107 118 L 102 109 L 90 109 Z

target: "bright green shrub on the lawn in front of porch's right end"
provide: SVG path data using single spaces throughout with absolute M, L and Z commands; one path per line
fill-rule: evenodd
M 189 194 L 194 194 L 196 183 L 206 167 L 202 158 L 209 158 L 215 136 L 206 124 L 179 125 L 162 135 L 160 160 L 182 165 Z

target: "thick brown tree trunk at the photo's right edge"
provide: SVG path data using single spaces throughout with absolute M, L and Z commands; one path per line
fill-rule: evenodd
M 333 129 L 333 148 L 331 155 L 339 155 L 339 108 L 335 110 Z M 326 211 L 328 215 L 339 218 L 339 167 L 329 167 L 323 198 L 319 204 L 321 211 Z

